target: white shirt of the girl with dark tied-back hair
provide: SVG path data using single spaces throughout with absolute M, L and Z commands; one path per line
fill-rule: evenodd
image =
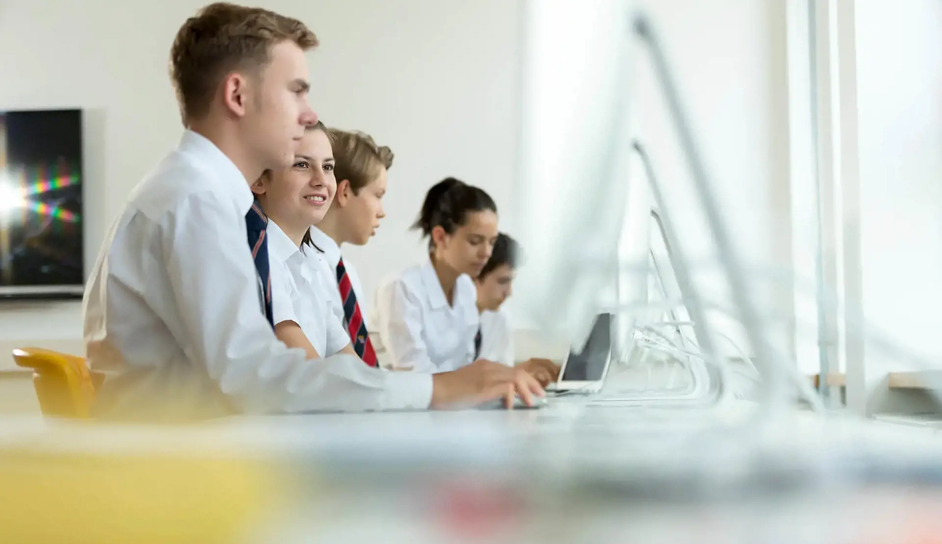
M 376 294 L 376 329 L 387 362 L 430 373 L 471 363 L 478 333 L 477 301 L 474 280 L 462 275 L 449 306 L 428 260 L 385 280 Z

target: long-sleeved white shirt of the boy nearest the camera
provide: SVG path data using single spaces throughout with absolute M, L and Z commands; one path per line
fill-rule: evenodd
M 428 408 L 431 376 L 349 354 L 306 360 L 265 318 L 248 245 L 252 192 L 235 164 L 187 131 L 132 191 L 82 303 L 92 368 L 115 370 L 103 416 Z

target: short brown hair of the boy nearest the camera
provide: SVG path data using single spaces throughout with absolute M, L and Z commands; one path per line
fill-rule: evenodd
M 260 71 L 270 49 L 283 41 L 304 51 L 317 47 L 307 26 L 268 9 L 217 2 L 187 19 L 171 46 L 171 81 L 184 125 L 209 113 L 227 73 Z

